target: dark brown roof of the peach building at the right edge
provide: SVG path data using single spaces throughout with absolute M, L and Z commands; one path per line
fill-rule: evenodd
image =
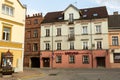
M 109 15 L 108 18 L 109 29 L 120 29 L 120 15 Z

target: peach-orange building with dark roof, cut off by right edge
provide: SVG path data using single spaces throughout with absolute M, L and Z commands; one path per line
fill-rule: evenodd
M 120 68 L 120 14 L 114 12 L 108 19 L 111 68 Z

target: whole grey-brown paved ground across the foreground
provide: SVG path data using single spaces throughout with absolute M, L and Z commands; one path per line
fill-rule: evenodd
M 24 69 L 0 80 L 120 80 L 120 69 Z

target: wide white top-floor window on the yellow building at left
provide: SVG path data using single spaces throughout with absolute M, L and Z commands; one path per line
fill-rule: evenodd
M 7 5 L 2 5 L 2 13 L 7 14 L 10 16 L 13 16 L 14 9 L 13 7 L 7 6 Z

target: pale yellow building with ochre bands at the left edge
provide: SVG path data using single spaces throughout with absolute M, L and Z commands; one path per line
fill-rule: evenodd
M 2 54 L 13 54 L 15 72 L 23 71 L 26 8 L 19 0 L 0 1 L 0 67 Z

